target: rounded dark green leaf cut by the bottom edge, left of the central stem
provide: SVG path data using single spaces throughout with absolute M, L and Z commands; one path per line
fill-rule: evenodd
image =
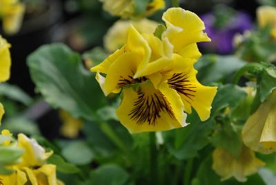
M 124 185 L 128 177 L 128 173 L 120 166 L 106 164 L 90 173 L 89 183 L 97 185 Z

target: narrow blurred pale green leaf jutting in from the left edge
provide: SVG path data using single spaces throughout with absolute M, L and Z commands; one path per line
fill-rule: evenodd
M 32 98 L 17 86 L 10 84 L 0 84 L 0 95 L 4 95 L 12 100 L 19 101 L 28 106 L 32 103 Z

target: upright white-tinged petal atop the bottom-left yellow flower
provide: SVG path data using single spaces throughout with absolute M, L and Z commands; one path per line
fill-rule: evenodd
M 52 155 L 52 151 L 46 153 L 36 140 L 29 139 L 26 135 L 20 133 L 17 138 L 19 148 L 23 148 L 22 166 L 41 166 L 46 159 Z

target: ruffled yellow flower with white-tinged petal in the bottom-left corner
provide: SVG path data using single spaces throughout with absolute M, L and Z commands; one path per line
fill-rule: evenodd
M 5 130 L 5 133 L 8 135 L 10 132 Z M 17 142 L 14 142 L 12 147 L 23 149 L 23 155 L 18 164 L 9 166 L 10 169 L 14 170 L 12 174 L 0 175 L 2 184 L 63 184 L 56 177 L 56 166 L 46 164 L 46 160 L 52 155 L 52 151 L 46 153 L 44 148 L 37 144 L 34 139 L 29 139 L 23 134 L 18 135 Z

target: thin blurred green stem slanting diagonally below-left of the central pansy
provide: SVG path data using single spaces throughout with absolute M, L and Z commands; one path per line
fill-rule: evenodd
M 121 141 L 121 138 L 117 136 L 117 134 L 114 132 L 114 130 L 110 127 L 110 125 L 106 122 L 101 123 L 101 130 L 103 130 L 103 133 L 105 133 L 108 138 L 124 153 L 129 154 L 130 152 L 124 145 L 124 142 Z

